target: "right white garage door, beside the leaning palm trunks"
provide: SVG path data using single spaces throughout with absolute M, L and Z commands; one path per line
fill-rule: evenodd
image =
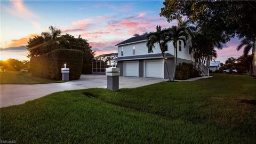
M 145 61 L 145 77 L 164 78 L 163 60 Z

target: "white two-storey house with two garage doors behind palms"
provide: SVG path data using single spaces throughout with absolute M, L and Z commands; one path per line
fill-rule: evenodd
M 182 41 L 177 43 L 177 65 L 182 62 L 195 61 L 193 52 L 189 49 L 191 38 L 194 35 L 189 28 L 187 29 L 189 38 L 186 46 Z M 118 61 L 120 76 L 168 78 L 159 45 L 155 44 L 153 52 L 150 52 L 146 43 L 147 35 L 141 35 L 129 38 L 116 45 L 118 47 L 118 57 L 114 61 Z M 172 42 L 166 44 L 165 58 L 170 78 L 172 78 L 174 69 L 174 47 Z

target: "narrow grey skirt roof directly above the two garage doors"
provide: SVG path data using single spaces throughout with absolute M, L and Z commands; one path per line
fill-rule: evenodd
M 114 59 L 113 61 L 158 59 L 158 58 L 163 58 L 162 53 L 118 57 L 118 58 Z M 165 58 L 174 58 L 174 55 L 172 55 L 170 53 L 165 53 Z

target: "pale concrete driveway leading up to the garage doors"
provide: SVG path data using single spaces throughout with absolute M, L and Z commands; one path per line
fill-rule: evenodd
M 161 78 L 119 77 L 119 88 L 135 88 L 167 81 Z M 79 90 L 92 87 L 107 87 L 105 75 L 82 75 L 80 79 L 66 83 L 52 84 L 3 84 L 0 85 L 0 107 L 19 105 L 41 98 L 53 92 Z

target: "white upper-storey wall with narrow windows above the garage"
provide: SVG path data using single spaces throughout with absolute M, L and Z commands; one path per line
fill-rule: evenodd
M 156 43 L 155 48 L 153 48 L 153 53 L 148 53 L 148 48 L 146 46 L 147 42 L 139 42 L 134 44 L 127 44 L 118 46 L 118 57 L 127 57 L 132 55 L 144 55 L 144 54 L 155 54 L 155 53 L 161 53 L 159 45 Z M 135 54 L 132 53 L 133 45 L 135 45 Z M 167 43 L 168 45 L 168 51 L 167 53 L 170 53 L 174 55 L 174 46 L 172 42 Z M 189 54 L 189 46 L 191 45 L 191 36 L 189 35 L 189 39 L 186 42 L 186 46 L 184 46 L 184 43 L 181 42 L 181 51 L 179 51 L 179 42 L 177 43 L 177 50 L 178 50 L 178 58 L 180 59 L 186 59 L 186 60 L 193 60 L 193 53 Z M 124 47 L 124 55 L 121 55 L 121 47 Z

